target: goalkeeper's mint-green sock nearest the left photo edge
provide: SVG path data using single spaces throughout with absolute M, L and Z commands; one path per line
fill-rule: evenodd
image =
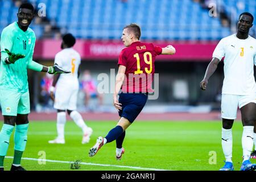
M 3 124 L 0 132 L 0 167 L 3 167 L 3 160 L 7 154 L 11 133 L 13 133 L 14 126 Z

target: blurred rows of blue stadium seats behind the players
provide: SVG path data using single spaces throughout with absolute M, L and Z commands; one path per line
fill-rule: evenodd
M 82 39 L 119 39 L 123 26 L 131 22 L 141 25 L 142 39 L 219 40 L 231 34 L 229 27 L 222 26 L 220 18 L 210 17 L 207 9 L 192 0 L 30 2 L 36 7 L 39 3 L 45 3 L 49 24 L 55 24 L 61 33 L 71 32 Z M 249 3 L 244 2 L 249 7 Z M 10 11 L 6 11 L 7 9 Z M 3 27 L 16 20 L 17 7 L 12 1 L 0 0 L 0 10 L 2 31 Z M 31 28 L 36 32 L 37 38 L 44 38 L 42 24 L 36 24 L 34 20 Z

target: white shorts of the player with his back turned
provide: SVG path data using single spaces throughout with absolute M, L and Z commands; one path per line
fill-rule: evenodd
M 79 88 L 57 86 L 54 108 L 59 110 L 76 110 L 78 92 Z

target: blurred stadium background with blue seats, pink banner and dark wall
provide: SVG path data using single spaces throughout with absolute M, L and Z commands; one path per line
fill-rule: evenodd
M 0 0 L 0 31 L 17 20 L 24 1 Z M 112 93 L 98 93 L 101 73 L 113 85 L 118 55 L 123 47 L 122 29 L 129 23 L 142 28 L 142 42 L 156 46 L 172 44 L 174 56 L 159 56 L 159 97 L 148 100 L 143 113 L 209 113 L 220 110 L 224 78 L 223 61 L 210 78 L 208 90 L 200 90 L 212 52 L 218 41 L 236 32 L 238 16 L 255 16 L 254 0 L 31 0 L 36 16 L 31 24 L 36 34 L 34 60 L 52 65 L 61 36 L 77 38 L 75 49 L 82 57 L 78 110 L 85 113 L 116 113 Z M 255 37 L 256 26 L 250 30 Z M 112 71 L 110 70 L 112 69 Z M 31 110 L 55 112 L 49 99 L 52 77 L 28 71 Z M 110 90 L 110 88 L 109 88 Z

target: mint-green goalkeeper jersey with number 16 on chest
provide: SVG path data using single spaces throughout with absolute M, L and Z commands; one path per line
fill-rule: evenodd
M 17 92 L 28 91 L 27 67 L 32 61 L 35 47 L 35 33 L 31 28 L 23 31 L 18 23 L 14 22 L 5 27 L 1 34 L 1 65 L 0 65 L 0 89 L 16 90 Z M 14 64 L 6 64 L 8 57 L 5 49 L 10 52 L 25 55 L 23 59 L 17 60 Z

